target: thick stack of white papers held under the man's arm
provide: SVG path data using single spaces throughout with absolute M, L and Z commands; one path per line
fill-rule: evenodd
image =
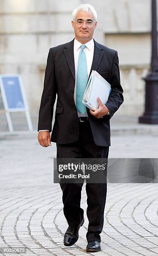
M 97 110 L 99 108 L 97 97 L 99 97 L 101 102 L 105 104 L 109 98 L 110 92 L 111 85 L 101 77 L 96 70 L 92 70 L 82 103 L 89 109 Z

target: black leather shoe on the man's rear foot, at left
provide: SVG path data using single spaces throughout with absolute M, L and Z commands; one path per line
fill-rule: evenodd
M 79 228 L 84 224 L 84 218 L 77 227 L 69 226 L 64 235 L 64 246 L 72 246 L 79 239 Z

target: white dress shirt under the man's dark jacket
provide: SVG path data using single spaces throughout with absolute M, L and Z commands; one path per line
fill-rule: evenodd
M 81 49 L 81 43 L 77 41 L 77 39 L 74 39 L 74 67 L 75 67 L 75 87 L 74 87 L 74 102 L 76 105 L 76 96 L 77 96 L 77 65 L 78 65 L 78 59 L 79 59 L 79 52 Z M 89 73 L 91 71 L 91 64 L 93 61 L 93 55 L 94 55 L 94 40 L 93 38 L 85 44 L 84 52 L 86 54 L 86 62 L 87 62 L 87 73 L 89 77 Z M 82 114 L 77 110 L 78 117 L 84 116 L 88 117 L 87 112 L 85 114 Z M 40 130 L 40 131 L 49 131 L 49 130 Z

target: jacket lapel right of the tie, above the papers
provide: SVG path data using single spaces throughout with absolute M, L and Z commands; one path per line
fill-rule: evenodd
M 94 55 L 93 55 L 93 61 L 92 61 L 92 64 L 91 64 L 91 71 L 89 73 L 89 77 L 91 75 L 92 70 L 97 70 L 103 55 L 104 55 L 103 48 L 101 47 L 100 44 L 98 44 L 94 40 Z

